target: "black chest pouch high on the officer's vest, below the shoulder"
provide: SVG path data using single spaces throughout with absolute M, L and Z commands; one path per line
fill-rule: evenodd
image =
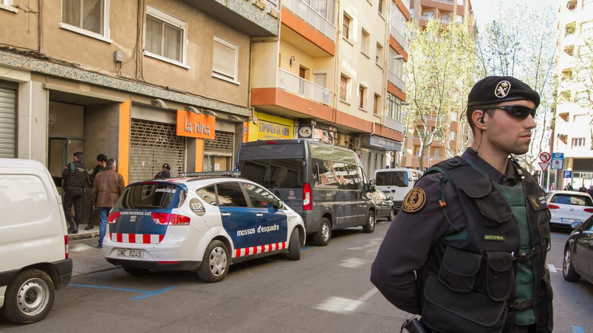
M 492 189 L 492 181 L 488 178 L 475 180 L 461 187 L 461 190 L 474 199 L 478 210 L 486 217 L 479 220 L 484 227 L 496 227 L 512 219 L 511 207 L 498 190 Z

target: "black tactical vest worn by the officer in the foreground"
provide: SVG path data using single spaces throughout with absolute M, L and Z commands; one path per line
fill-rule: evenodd
M 419 272 L 422 321 L 429 328 L 438 332 L 506 332 L 516 319 L 520 319 L 517 324 L 535 319 L 537 332 L 551 332 L 552 292 L 545 268 L 550 212 L 533 177 L 519 165 L 515 170 L 523 194 L 522 200 L 511 204 L 505 199 L 511 196 L 501 191 L 517 194 L 517 188 L 495 184 L 466 159 L 448 159 L 426 172 L 440 172 L 444 182 L 452 182 L 467 220 L 466 229 L 437 242 L 428 258 L 433 265 L 425 265 L 431 267 Z M 444 196 L 444 183 L 441 193 Z M 521 284 L 516 284 L 515 278 L 527 280 L 523 289 L 519 290 Z M 533 289 L 525 290 L 525 286 Z

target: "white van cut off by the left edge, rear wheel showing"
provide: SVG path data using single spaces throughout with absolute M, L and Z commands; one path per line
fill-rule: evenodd
M 40 321 L 72 276 L 62 197 L 43 164 L 0 158 L 0 212 L 0 312 Z

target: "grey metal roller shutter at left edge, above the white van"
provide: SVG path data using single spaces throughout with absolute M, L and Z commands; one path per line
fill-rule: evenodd
M 17 157 L 17 92 L 0 88 L 0 157 Z

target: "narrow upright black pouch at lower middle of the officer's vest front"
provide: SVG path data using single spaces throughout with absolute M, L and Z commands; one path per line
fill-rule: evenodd
M 508 300 L 515 290 L 513 257 L 509 252 L 486 252 L 486 290 L 492 300 Z

